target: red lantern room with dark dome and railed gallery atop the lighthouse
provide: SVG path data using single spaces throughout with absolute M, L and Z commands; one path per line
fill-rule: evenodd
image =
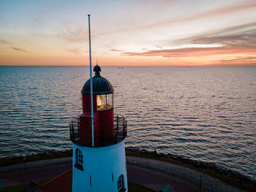
M 114 118 L 113 87 L 100 75 L 100 66 L 94 66 L 92 77 L 93 112 L 94 112 L 94 146 L 102 147 L 121 142 L 127 135 L 127 120 L 124 117 Z M 91 147 L 91 86 L 88 80 L 82 89 L 83 113 L 78 118 L 77 135 L 75 123 L 70 124 L 70 139 L 81 146 Z

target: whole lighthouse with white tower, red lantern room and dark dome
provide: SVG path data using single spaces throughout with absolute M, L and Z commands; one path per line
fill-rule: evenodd
M 90 80 L 82 89 L 83 113 L 69 124 L 73 143 L 72 191 L 128 191 L 124 149 L 127 120 L 114 115 L 113 87 L 100 75 L 98 65 L 94 66 L 94 72 L 94 127 L 92 129 Z

